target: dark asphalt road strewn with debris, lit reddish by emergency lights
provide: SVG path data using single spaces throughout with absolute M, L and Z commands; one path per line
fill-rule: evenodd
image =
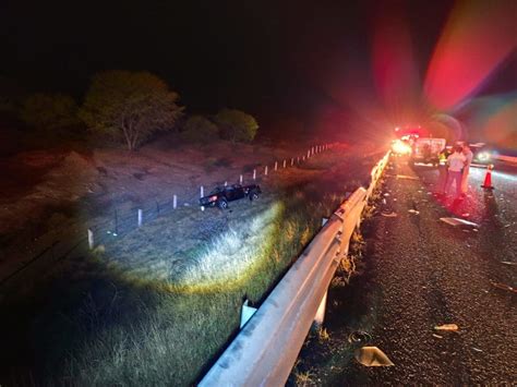
M 509 171 L 509 172 L 508 172 Z M 329 292 L 327 342 L 310 342 L 301 371 L 314 385 L 517 383 L 517 178 L 495 171 L 493 192 L 471 169 L 466 199 L 437 199 L 437 171 L 401 159 L 386 171 L 384 201 L 366 238 L 359 275 Z M 410 211 L 411 210 L 411 211 Z M 386 216 L 396 214 L 396 216 Z M 458 217 L 477 227 L 440 220 Z M 435 326 L 456 324 L 457 331 Z M 353 359 L 354 330 L 395 363 Z

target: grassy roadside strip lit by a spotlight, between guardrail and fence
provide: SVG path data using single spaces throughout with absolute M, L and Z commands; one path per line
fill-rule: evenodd
M 289 172 L 310 179 L 278 177 L 270 182 L 275 193 L 254 207 L 232 206 L 239 216 L 208 239 L 173 250 L 136 243 L 142 235 L 130 233 L 119 242 L 123 249 L 61 265 L 36 294 L 2 305 L 12 311 L 1 328 L 5 348 L 13 349 L 2 363 L 24 359 L 27 348 L 34 361 L 7 370 L 10 376 L 0 383 L 195 383 L 236 335 L 244 299 L 258 305 L 322 217 L 357 186 L 353 168 L 339 153 L 323 154 Z M 206 220 L 206 214 L 191 221 Z M 159 219 L 148 227 L 146 232 L 161 234 L 170 225 Z

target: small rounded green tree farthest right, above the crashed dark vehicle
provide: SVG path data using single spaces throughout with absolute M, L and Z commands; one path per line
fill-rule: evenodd
M 250 143 L 258 130 L 258 124 L 252 116 L 235 109 L 221 109 L 215 116 L 215 122 L 220 129 L 221 136 L 232 143 Z

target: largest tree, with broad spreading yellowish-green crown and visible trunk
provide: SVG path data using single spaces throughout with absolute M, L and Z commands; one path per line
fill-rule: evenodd
M 155 132 L 175 126 L 183 110 L 178 99 L 151 73 L 106 71 L 94 75 L 80 117 L 92 131 L 121 138 L 134 150 Z

